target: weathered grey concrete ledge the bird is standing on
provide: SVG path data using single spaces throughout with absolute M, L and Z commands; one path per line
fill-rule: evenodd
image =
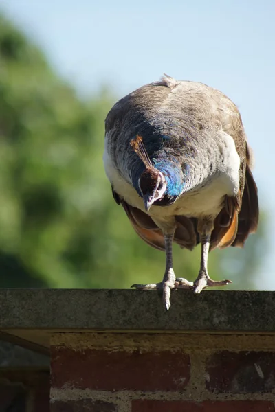
M 173 290 L 165 312 L 155 290 L 0 290 L 0 330 L 275 332 L 275 292 Z

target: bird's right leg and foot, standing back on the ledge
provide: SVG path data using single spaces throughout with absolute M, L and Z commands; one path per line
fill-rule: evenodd
M 198 226 L 199 231 L 199 226 Z M 208 275 L 208 253 L 210 247 L 210 238 L 212 232 L 212 225 L 210 222 L 205 222 L 201 225 L 200 240 L 201 240 L 201 268 L 199 269 L 199 275 L 194 282 L 194 292 L 201 293 L 201 290 L 212 286 L 225 286 L 231 282 L 231 280 L 212 280 Z

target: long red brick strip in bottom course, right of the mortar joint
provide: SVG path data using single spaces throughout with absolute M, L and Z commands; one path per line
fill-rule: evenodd
M 261 400 L 205 401 L 133 400 L 132 412 L 274 412 L 273 402 Z

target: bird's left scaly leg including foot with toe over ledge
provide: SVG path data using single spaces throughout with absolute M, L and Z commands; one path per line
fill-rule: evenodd
M 193 286 L 193 282 L 188 282 L 188 280 L 184 278 L 176 279 L 175 273 L 173 271 L 173 252 L 172 252 L 172 245 L 173 245 L 173 235 L 165 235 L 164 242 L 165 242 L 165 251 L 166 251 L 166 268 L 164 273 L 164 278 L 162 282 L 157 284 L 147 284 L 147 285 L 140 285 L 135 284 L 132 285 L 131 288 L 137 289 L 162 289 L 163 290 L 163 301 L 164 306 L 167 310 L 170 308 L 170 295 L 171 289 L 173 288 L 181 288 L 181 289 L 190 289 Z

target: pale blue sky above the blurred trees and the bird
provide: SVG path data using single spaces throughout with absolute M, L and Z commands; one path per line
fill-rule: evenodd
M 259 287 L 275 289 L 275 1 L 0 0 L 80 93 L 118 98 L 162 73 L 220 89 L 239 106 L 255 155 L 270 255 Z

